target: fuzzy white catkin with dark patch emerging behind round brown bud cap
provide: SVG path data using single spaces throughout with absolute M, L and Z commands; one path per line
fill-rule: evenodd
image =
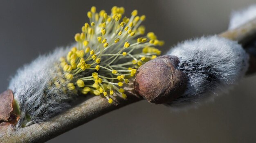
M 188 77 L 185 93 L 170 104 L 175 108 L 196 107 L 226 92 L 244 76 L 249 59 L 236 41 L 218 36 L 184 41 L 167 54 L 180 58 L 177 69 Z

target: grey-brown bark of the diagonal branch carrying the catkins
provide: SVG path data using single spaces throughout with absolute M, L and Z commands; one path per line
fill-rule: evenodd
M 219 36 L 231 40 L 236 40 L 239 43 L 244 44 L 247 42 L 248 39 L 253 37 L 255 33 L 256 19 L 234 30 L 222 32 Z M 85 124 L 88 121 L 91 121 L 92 119 L 95 119 L 103 114 L 142 100 L 141 97 L 135 94 L 132 82 L 130 83 L 129 87 L 126 87 L 126 91 L 128 91 L 127 100 L 120 100 L 117 97 L 115 102 L 118 104 L 109 104 L 104 98 L 101 98 L 100 96 L 95 96 L 61 113 L 60 115 L 49 119 L 49 121 L 40 124 L 33 124 L 25 128 L 4 126 L 2 130 L 0 130 L 0 142 L 45 142 L 64 132 L 67 132 L 68 130 Z

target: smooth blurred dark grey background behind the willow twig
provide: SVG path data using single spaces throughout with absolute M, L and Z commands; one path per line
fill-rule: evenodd
M 74 40 L 91 6 L 108 13 L 124 6 L 147 16 L 147 32 L 177 42 L 227 29 L 231 11 L 255 0 L 1 0 L 0 91 L 39 54 Z M 174 112 L 146 101 L 131 104 L 62 134 L 48 143 L 253 143 L 256 142 L 256 76 L 198 109 Z

